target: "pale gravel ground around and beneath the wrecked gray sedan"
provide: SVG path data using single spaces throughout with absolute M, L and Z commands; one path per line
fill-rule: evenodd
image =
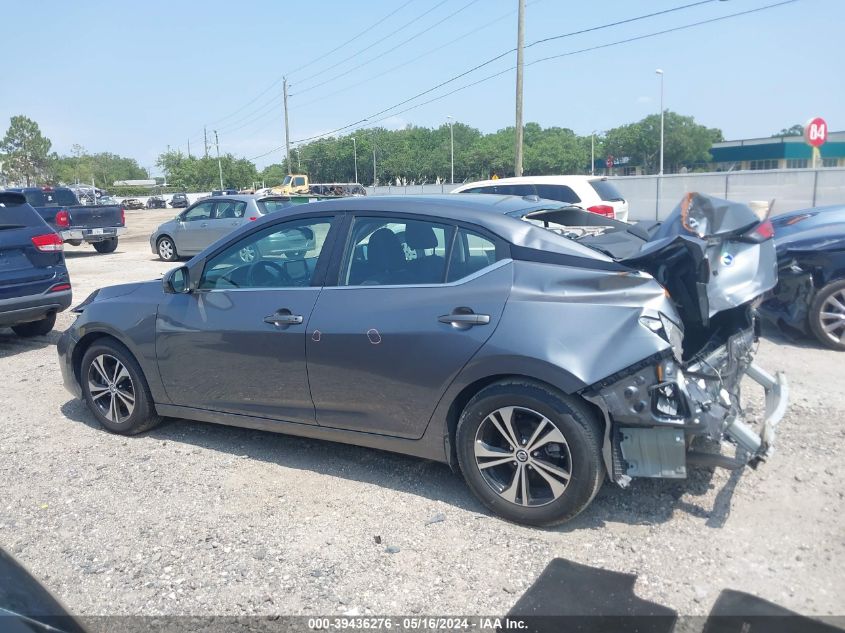
M 111 255 L 68 248 L 76 302 L 170 268 L 147 238 L 173 214 L 128 212 Z M 0 328 L 0 546 L 73 613 L 503 614 L 556 557 L 638 574 L 640 597 L 682 614 L 723 588 L 845 611 L 845 355 L 809 341 L 761 343 L 762 366 L 791 382 L 768 463 L 605 485 L 543 530 L 400 455 L 183 420 L 109 434 L 61 385 L 55 341 L 72 318 L 40 340 Z

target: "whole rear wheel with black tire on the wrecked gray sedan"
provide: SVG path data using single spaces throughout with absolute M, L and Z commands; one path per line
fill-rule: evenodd
M 487 508 L 515 523 L 549 526 L 575 517 L 598 493 L 601 438 L 596 414 L 579 398 L 506 380 L 467 403 L 455 445 L 467 484 Z

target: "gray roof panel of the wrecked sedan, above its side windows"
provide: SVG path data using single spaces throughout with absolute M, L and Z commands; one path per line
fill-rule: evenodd
M 516 217 L 530 210 L 568 206 L 571 205 L 556 200 L 542 200 L 535 196 L 522 198 L 497 194 L 394 195 L 319 200 L 294 207 L 289 215 L 319 216 L 329 211 L 331 213 L 375 212 L 431 216 L 474 224 L 517 246 L 612 261 L 611 258 L 596 250 Z M 265 216 L 265 221 L 274 215 Z

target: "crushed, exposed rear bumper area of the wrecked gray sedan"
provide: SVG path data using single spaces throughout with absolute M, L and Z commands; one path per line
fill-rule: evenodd
M 625 486 L 632 477 L 684 478 L 688 465 L 741 468 L 769 457 L 786 414 L 789 387 L 752 360 L 754 333 L 744 330 L 706 357 L 685 364 L 670 356 L 642 362 L 593 386 L 584 396 L 605 416 L 608 472 Z M 740 403 L 748 377 L 763 387 L 765 412 L 752 426 Z M 695 438 L 735 445 L 735 457 L 691 451 Z

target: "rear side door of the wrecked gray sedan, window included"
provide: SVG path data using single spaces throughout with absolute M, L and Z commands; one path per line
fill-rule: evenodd
M 513 275 L 506 247 L 398 216 L 356 217 L 351 231 L 308 326 L 317 423 L 419 438 L 496 328 Z

